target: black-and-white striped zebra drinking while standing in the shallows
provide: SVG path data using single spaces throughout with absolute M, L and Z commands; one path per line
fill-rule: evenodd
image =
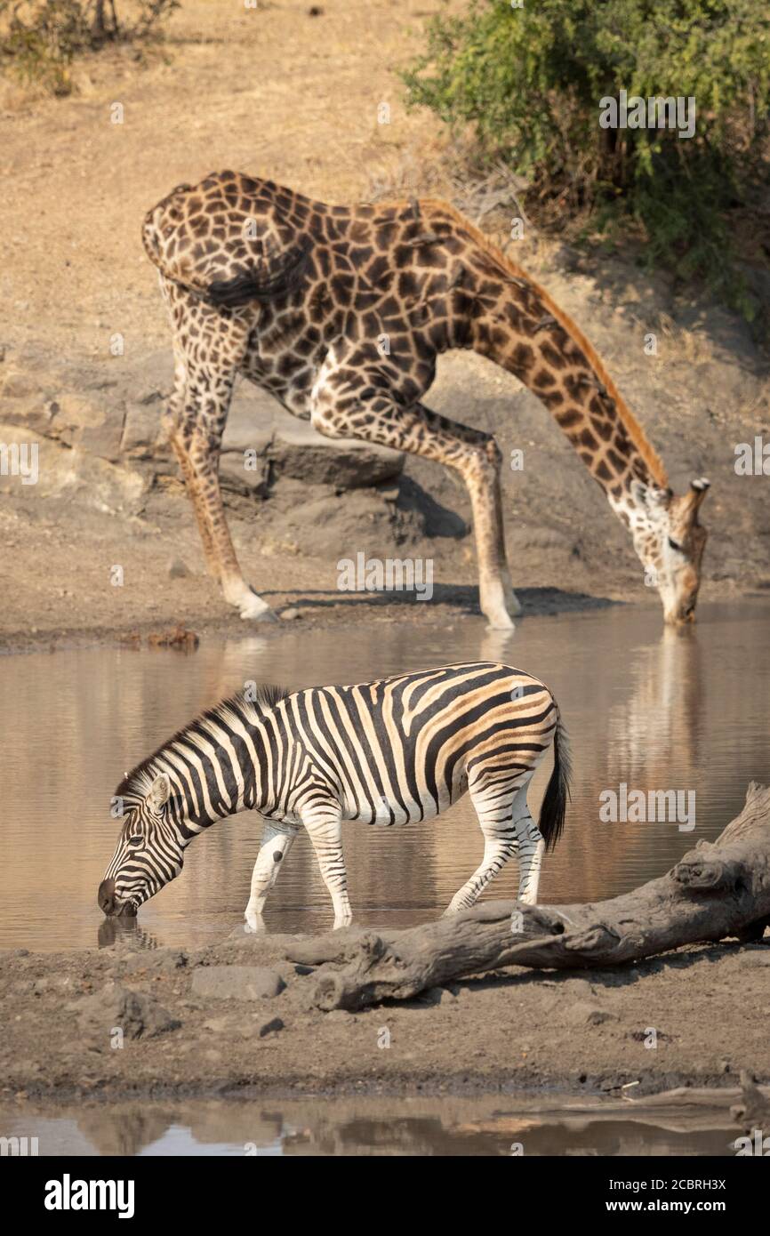
M 538 827 L 527 805 L 554 744 Z M 352 921 L 342 822 L 403 824 L 439 816 L 466 791 L 483 859 L 445 913 L 470 907 L 518 852 L 519 900 L 534 905 L 540 865 L 564 827 L 570 749 L 538 679 L 493 661 L 288 692 L 247 687 L 178 730 L 117 786 L 124 827 L 99 886 L 105 915 L 136 915 L 182 871 L 184 850 L 216 819 L 264 819 L 246 906 L 263 929 L 269 890 L 299 831 L 313 843 L 334 926 Z

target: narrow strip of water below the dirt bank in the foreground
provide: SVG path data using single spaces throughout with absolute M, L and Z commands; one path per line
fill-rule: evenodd
M 627 1104 L 627 1109 L 633 1109 Z M 682 1114 L 583 1104 L 523 1105 L 503 1096 L 103 1104 L 0 1109 L 22 1153 L 104 1156 L 734 1156 L 723 1106 Z M 37 1138 L 32 1142 L 31 1138 Z

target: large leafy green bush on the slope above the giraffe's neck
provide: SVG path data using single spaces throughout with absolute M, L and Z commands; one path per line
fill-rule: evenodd
M 545 218 L 617 236 L 703 277 L 751 315 L 728 211 L 768 179 L 770 16 L 764 0 L 473 0 L 429 26 L 402 74 L 410 105 L 471 126 L 480 162 L 501 156 Z M 603 129 L 599 100 L 696 100 L 695 133 Z

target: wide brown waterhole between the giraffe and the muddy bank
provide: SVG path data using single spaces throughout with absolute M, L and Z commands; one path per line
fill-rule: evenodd
M 110 797 L 124 772 L 199 709 L 247 680 L 288 687 L 355 682 L 408 669 L 494 659 L 555 692 L 572 739 L 565 838 L 546 859 L 545 902 L 609 897 L 662 874 L 740 810 L 747 784 L 770 779 L 770 604 L 702 606 L 697 625 L 666 630 L 656 608 L 612 607 L 527 618 L 512 637 L 480 619 L 248 634 L 190 655 L 95 648 L 0 660 L 0 947 L 59 950 L 114 939 L 96 889 L 119 824 Z M 550 772 L 530 794 L 538 808 Z M 608 791 L 682 791 L 695 818 L 601 819 Z M 688 796 L 695 796 L 695 800 Z M 607 808 L 604 808 L 607 810 Z M 241 921 L 260 819 L 215 824 L 180 878 L 140 911 L 136 942 L 198 946 Z M 345 831 L 361 923 L 407 926 L 439 915 L 476 868 L 482 837 L 466 797 L 407 828 Z M 514 896 L 515 864 L 487 896 Z M 266 911 L 268 928 L 318 931 L 331 908 L 300 837 Z

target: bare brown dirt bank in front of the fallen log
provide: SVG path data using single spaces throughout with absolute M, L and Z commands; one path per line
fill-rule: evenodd
M 5 952 L 0 1096 L 618 1095 L 630 1083 L 640 1096 L 734 1086 L 742 1068 L 770 1079 L 766 946 L 580 975 L 512 968 L 350 1015 L 311 1006 L 290 939 L 239 929 L 198 952 L 146 950 L 138 931 L 94 952 Z

